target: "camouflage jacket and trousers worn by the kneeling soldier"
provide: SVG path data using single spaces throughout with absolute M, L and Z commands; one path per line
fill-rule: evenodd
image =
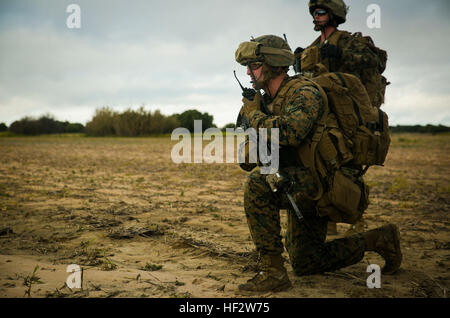
M 289 81 L 301 79 L 287 78 L 280 90 Z M 253 128 L 279 128 L 280 145 L 283 149 L 298 147 L 313 130 L 323 112 L 323 100 L 313 86 L 296 89 L 290 96 L 284 96 L 281 103 L 275 97 L 268 101 L 273 115 L 254 111 L 250 116 Z M 281 108 L 271 106 L 283 105 Z M 280 150 L 280 162 L 284 160 Z M 364 239 L 361 234 L 325 243 L 328 219 L 319 217 L 312 197 L 317 191 L 312 173 L 299 163 L 283 165 L 283 172 L 295 178 L 292 193 L 300 205 L 305 220 L 299 222 L 290 210 L 289 202 L 282 193 L 274 193 L 266 182 L 266 175 L 255 170 L 249 174 L 244 191 L 244 209 L 251 237 L 261 255 L 281 255 L 283 242 L 280 226 L 280 209 L 288 209 L 288 228 L 285 245 L 294 272 L 297 275 L 333 271 L 359 262 L 364 256 Z

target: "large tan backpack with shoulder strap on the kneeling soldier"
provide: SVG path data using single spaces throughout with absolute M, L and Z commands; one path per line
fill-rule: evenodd
M 362 175 L 371 165 L 383 165 L 389 149 L 388 117 L 371 105 L 361 81 L 346 73 L 294 76 L 269 110 L 281 115 L 288 98 L 304 86 L 316 87 L 324 101 L 324 113 L 297 148 L 298 160 L 311 170 L 318 188 L 310 199 L 317 201 L 319 215 L 354 224 L 368 206 Z

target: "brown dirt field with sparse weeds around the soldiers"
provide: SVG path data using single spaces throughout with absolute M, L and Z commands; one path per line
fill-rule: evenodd
M 0 297 L 239 297 L 256 260 L 247 173 L 174 164 L 175 143 L 0 138 Z M 368 289 L 367 265 L 383 265 L 375 253 L 323 275 L 296 277 L 288 265 L 293 288 L 257 296 L 448 297 L 450 135 L 394 135 L 385 167 L 366 179 L 367 227 L 399 226 L 401 271 Z M 83 268 L 81 290 L 65 286 L 69 264 Z

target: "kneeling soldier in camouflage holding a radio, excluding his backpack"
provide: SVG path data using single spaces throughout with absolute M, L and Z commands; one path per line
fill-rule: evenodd
M 320 216 L 317 201 L 318 186 L 311 169 L 296 154 L 307 151 L 314 131 L 327 107 L 323 89 L 303 76 L 290 77 L 287 72 L 294 54 L 285 40 L 265 35 L 239 45 L 236 61 L 247 67 L 256 95 L 242 99 L 240 114 L 251 128 L 279 133 L 278 173 L 289 180 L 290 192 L 300 207 L 303 218 L 292 211 L 283 191 L 273 191 L 279 179 L 263 174 L 257 166 L 245 162 L 241 167 L 250 171 L 244 190 L 244 210 L 251 238 L 260 257 L 259 272 L 238 286 L 241 292 L 282 291 L 291 286 L 282 253 L 286 248 L 295 275 L 312 275 L 356 264 L 366 251 L 374 251 L 385 260 L 382 272 L 392 274 L 402 261 L 397 227 L 389 224 L 365 233 L 325 241 L 328 217 Z M 264 94 L 260 94 L 259 89 Z M 262 109 L 265 105 L 265 110 Z M 243 149 L 249 149 L 243 147 Z M 248 153 L 244 157 L 248 158 Z M 275 174 L 276 175 L 276 174 Z M 279 175 L 278 175 L 279 176 Z M 288 225 L 283 245 L 280 209 L 288 211 Z

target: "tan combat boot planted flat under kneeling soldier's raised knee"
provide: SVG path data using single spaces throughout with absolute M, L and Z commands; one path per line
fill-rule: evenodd
M 292 286 L 281 255 L 262 255 L 261 269 L 247 283 L 238 286 L 240 292 L 279 292 Z

